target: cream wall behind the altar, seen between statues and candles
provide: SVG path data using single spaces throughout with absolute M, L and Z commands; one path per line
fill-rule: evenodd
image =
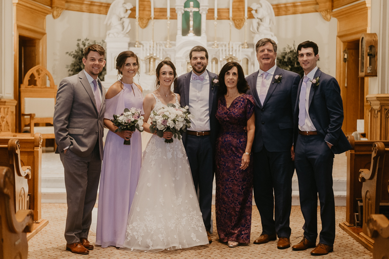
M 135 5 L 135 0 L 129 0 Z M 164 7 L 165 1 L 157 1 L 156 7 Z M 228 1 L 219 1 L 220 8 L 228 8 Z M 284 2 L 284 1 L 283 1 Z M 159 6 L 161 4 L 161 6 Z M 248 5 L 251 4 L 249 1 Z M 174 1 L 171 1 L 173 8 Z M 213 1 L 209 2 L 209 6 L 213 8 Z M 47 67 L 53 74 L 55 84 L 59 84 L 60 80 L 68 75 L 65 68 L 71 63 L 71 57 L 65 52 L 73 51 L 77 38 L 84 39 L 88 37 L 93 40 L 102 40 L 106 37 L 106 25 L 104 24 L 106 16 L 97 14 L 88 14 L 82 12 L 64 11 L 58 19 L 53 19 L 52 16 L 47 17 Z M 154 40 L 166 41 L 167 39 L 167 20 L 155 20 Z M 214 25 L 213 20 L 207 20 L 207 40 L 214 40 Z M 248 20 L 248 43 L 252 43 L 252 33 L 249 30 L 251 20 Z M 336 74 L 336 26 L 337 21 L 332 18 L 330 22 L 325 21 L 319 13 L 309 13 L 301 15 L 279 16 L 276 17 L 276 26 L 274 33 L 278 37 L 278 52 L 282 52 L 286 45 L 296 47 L 299 43 L 305 40 L 311 40 L 319 46 L 320 61 L 318 66 L 324 72 L 335 76 Z M 244 42 L 245 31 L 232 27 L 232 41 Z M 131 30 L 128 33 L 132 44 L 135 42 L 136 24 L 135 19 L 131 19 Z M 174 41 L 177 34 L 177 20 L 171 20 L 170 24 L 170 40 Z M 228 20 L 218 21 L 217 26 L 217 41 L 228 42 L 230 40 L 230 25 Z M 140 41 L 151 41 L 152 27 L 151 22 L 145 29 L 139 29 Z

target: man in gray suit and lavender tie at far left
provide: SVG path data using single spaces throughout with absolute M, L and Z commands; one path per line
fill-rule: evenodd
M 105 50 L 100 45 L 85 49 L 85 69 L 59 84 L 53 117 L 55 153 L 65 169 L 66 250 L 76 254 L 88 254 L 93 249 L 88 232 L 103 160 L 106 90 L 98 75 L 106 65 L 104 56 Z

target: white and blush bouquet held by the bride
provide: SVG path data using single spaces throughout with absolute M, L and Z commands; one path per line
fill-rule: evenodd
M 157 135 L 162 138 L 163 132 L 173 133 L 174 138 L 181 139 L 182 132 L 191 127 L 192 118 L 188 111 L 188 105 L 183 107 L 176 107 L 175 104 L 167 104 L 167 107 L 162 107 L 158 111 L 151 111 L 150 132 L 157 132 Z M 172 139 L 165 139 L 166 143 L 172 143 Z

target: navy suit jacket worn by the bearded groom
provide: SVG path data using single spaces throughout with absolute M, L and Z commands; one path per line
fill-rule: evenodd
M 211 126 L 211 144 L 213 154 L 215 151 L 216 137 L 219 131 L 219 122 L 216 119 L 216 110 L 217 110 L 217 85 L 212 84 L 212 80 L 217 78 L 217 75 L 208 71 L 208 76 L 210 80 L 210 97 L 209 97 L 209 111 L 210 111 L 210 126 Z M 185 107 L 189 105 L 189 86 L 191 82 L 192 71 L 186 74 L 183 74 L 177 78 L 177 84 L 175 86 L 174 92 L 178 93 L 181 96 L 180 104 Z M 191 110 L 189 110 L 191 111 Z M 188 130 L 191 130 L 190 128 Z M 182 142 L 185 145 L 186 134 L 182 135 Z

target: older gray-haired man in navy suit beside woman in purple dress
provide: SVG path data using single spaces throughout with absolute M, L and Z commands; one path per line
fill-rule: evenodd
M 256 105 L 254 198 L 262 221 L 262 234 L 254 243 L 278 236 L 277 248 L 285 249 L 290 247 L 293 111 L 300 76 L 276 66 L 277 44 L 272 39 L 259 40 L 255 50 L 259 71 L 246 78 Z

